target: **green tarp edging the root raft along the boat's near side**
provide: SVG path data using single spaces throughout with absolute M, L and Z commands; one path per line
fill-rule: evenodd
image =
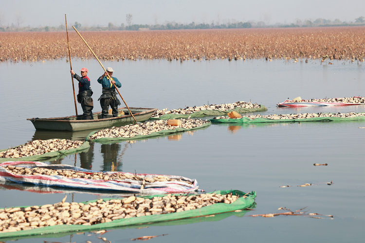
M 192 131 L 192 130 L 198 130 L 198 129 L 203 129 L 203 128 L 207 128 L 208 126 L 210 126 L 210 122 L 202 124 L 201 126 L 197 126 L 197 127 L 193 127 L 193 128 L 182 128 L 182 127 L 178 127 L 172 130 L 162 130 L 159 132 L 154 132 L 151 133 L 149 135 L 137 135 L 131 138 L 101 138 L 101 139 L 90 139 L 90 137 L 92 135 L 94 135 L 96 132 L 98 131 L 93 131 L 91 132 L 87 137 L 86 140 L 87 141 L 92 141 L 92 142 L 98 142 L 98 143 L 111 143 L 111 142 L 120 142 L 120 141 L 126 141 L 126 140 L 143 140 L 143 139 L 149 139 L 149 138 L 154 138 L 154 137 L 162 137 L 162 136 L 168 136 L 171 134 L 176 134 L 176 133 L 182 133 L 182 132 L 186 132 L 186 131 Z

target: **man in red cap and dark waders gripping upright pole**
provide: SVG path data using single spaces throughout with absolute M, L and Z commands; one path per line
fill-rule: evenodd
M 91 98 L 90 78 L 87 76 L 88 69 L 82 68 L 80 71 L 81 77 L 71 70 L 71 74 L 78 81 L 77 101 L 81 104 L 82 111 L 84 112 L 83 120 L 93 120 L 92 108 L 94 107 L 94 103 Z

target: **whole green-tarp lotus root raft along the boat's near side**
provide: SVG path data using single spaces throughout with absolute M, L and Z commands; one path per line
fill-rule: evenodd
M 165 120 L 147 121 L 122 127 L 111 127 L 91 132 L 86 140 L 100 143 L 110 143 L 124 140 L 148 139 L 170 134 L 197 130 L 210 126 L 210 121 L 201 119 L 179 119 L 181 125 L 171 126 Z

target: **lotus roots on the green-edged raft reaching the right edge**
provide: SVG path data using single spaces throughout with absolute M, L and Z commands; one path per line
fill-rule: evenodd
M 307 118 L 316 118 L 316 117 L 339 117 L 339 118 L 352 118 L 352 117 L 358 117 L 358 116 L 365 116 L 365 113 L 303 113 L 303 114 L 285 114 L 285 115 L 267 115 L 267 116 L 261 116 L 261 115 L 253 115 L 253 116 L 242 116 L 242 118 L 249 118 L 251 120 L 254 120 L 256 118 L 267 118 L 271 120 L 290 120 L 290 119 L 307 119 Z M 237 119 L 242 119 L 237 118 Z M 232 119 L 230 117 L 221 116 L 217 117 L 216 119 Z M 235 118 L 233 118 L 235 119 Z

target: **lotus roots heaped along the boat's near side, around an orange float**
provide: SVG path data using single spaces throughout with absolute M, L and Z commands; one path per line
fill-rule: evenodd
M 201 126 L 205 123 L 209 123 L 209 121 L 204 120 L 192 120 L 192 119 L 180 119 L 181 125 L 171 126 L 168 125 L 168 121 L 158 120 L 158 121 L 147 121 L 145 123 L 135 124 L 135 125 L 126 125 L 122 127 L 111 127 L 100 130 L 90 136 L 90 140 L 92 139 L 100 139 L 100 138 L 132 138 L 137 135 L 149 135 L 154 132 L 160 132 L 163 130 L 173 130 L 179 127 L 185 129 L 191 129 L 194 127 Z

